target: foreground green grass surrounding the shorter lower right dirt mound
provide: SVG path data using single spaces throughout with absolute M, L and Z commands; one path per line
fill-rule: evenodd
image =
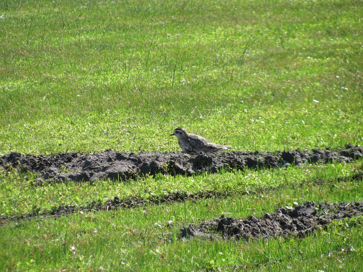
M 338 166 L 338 171 L 333 170 L 333 165 L 327 167 L 329 170 L 320 166 L 291 169 L 291 172 L 296 172 L 287 176 L 287 181 L 282 181 L 283 186 L 260 191 L 252 189 L 258 187 L 255 185 L 250 187 L 249 194 L 9 221 L 1 227 L 3 248 L 0 253 L 5 256 L 1 267 L 5 269 L 8 265 L 11 270 L 34 271 L 44 267 L 81 271 L 102 270 L 101 267 L 106 270 L 190 271 L 208 270 L 209 266 L 222 270 L 238 267 L 242 271 L 289 270 L 289 266 L 299 271 L 310 271 L 315 266 L 321 270 L 329 267 L 331 270 L 341 267 L 347 271 L 357 269 L 362 265 L 362 220 L 328 226 L 326 230 L 303 239 L 279 238 L 246 243 L 198 238 L 183 242 L 178 238 L 182 226 L 198 224 L 223 213 L 230 213 L 228 215 L 234 218 L 261 217 L 278 206 L 294 206 L 294 202 L 361 200 L 362 180 L 349 178 L 353 168 L 348 170 Z M 276 170 L 266 170 L 260 176 L 271 176 L 273 171 Z M 302 172 L 307 173 L 311 180 L 302 181 Z M 242 174 L 250 174 L 250 180 L 253 180 L 252 172 Z M 337 181 L 336 175 L 346 177 L 346 180 Z M 290 180 L 291 177 L 295 180 Z M 276 180 L 279 179 L 277 175 Z M 204 180 L 208 184 L 208 177 Z M 75 189 L 77 187 L 73 186 L 69 190 Z M 104 187 L 98 192 L 107 194 L 108 190 Z

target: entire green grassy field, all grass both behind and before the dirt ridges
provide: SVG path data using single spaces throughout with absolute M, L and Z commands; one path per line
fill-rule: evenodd
M 362 21 L 359 0 L 4 0 L 0 153 L 175 151 L 178 126 L 238 151 L 362 145 Z M 0 270 L 359 271 L 362 218 L 304 239 L 181 241 L 178 230 L 362 201 L 362 164 L 44 186 L 0 168 L 1 217 L 38 214 L 0 226 Z M 155 204 L 176 191 L 184 202 Z M 144 204 L 81 209 L 115 196 Z M 46 215 L 66 205 L 76 213 Z

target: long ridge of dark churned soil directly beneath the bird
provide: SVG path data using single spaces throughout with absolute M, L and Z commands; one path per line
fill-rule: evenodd
M 77 152 L 56 155 L 31 155 L 11 152 L 1 157 L 4 168 L 20 168 L 40 173 L 34 180 L 42 183 L 52 181 L 95 181 L 99 178 L 127 180 L 145 174 L 200 174 L 217 173 L 222 168 L 272 168 L 306 163 L 351 162 L 363 157 L 363 148 L 347 145 L 334 151 L 313 149 L 312 151 L 275 152 L 217 152 L 211 156 L 191 156 L 184 152 L 120 153 L 106 150 L 98 154 Z

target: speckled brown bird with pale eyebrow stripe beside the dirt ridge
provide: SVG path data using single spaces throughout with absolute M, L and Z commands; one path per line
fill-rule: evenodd
M 201 153 L 209 155 L 221 149 L 228 149 L 232 147 L 232 145 L 212 143 L 202 136 L 188 133 L 185 128 L 181 127 L 174 129 L 174 133 L 171 133 L 170 136 L 175 136 L 178 138 L 178 143 L 181 149 L 191 155 L 198 155 Z

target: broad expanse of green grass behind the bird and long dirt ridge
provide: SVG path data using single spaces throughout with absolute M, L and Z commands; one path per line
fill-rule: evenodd
M 2 5 L 0 152 L 362 143 L 360 1 L 87 3 Z

